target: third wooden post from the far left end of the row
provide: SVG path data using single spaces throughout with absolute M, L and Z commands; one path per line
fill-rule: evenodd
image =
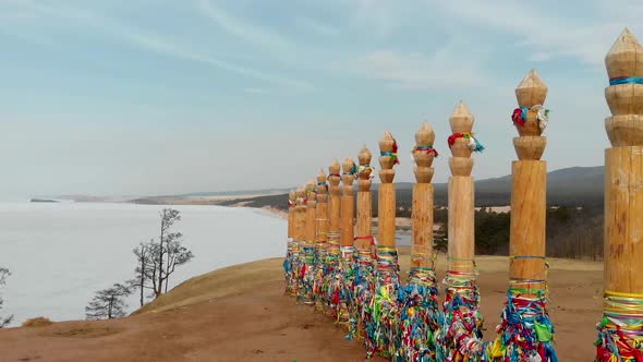
M 306 305 L 313 305 L 315 303 L 313 295 L 313 286 L 315 279 L 315 213 L 316 213 L 316 200 L 315 200 L 315 181 L 311 180 L 306 184 L 304 195 L 304 242 L 303 242 L 303 255 L 302 255 L 302 278 L 303 278 L 303 290 L 300 294 L 300 301 Z

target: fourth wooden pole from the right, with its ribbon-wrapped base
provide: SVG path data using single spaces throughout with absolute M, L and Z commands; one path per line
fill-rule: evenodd
M 433 148 L 435 133 L 427 122 L 415 133 L 413 159 L 415 180 L 413 185 L 413 241 L 409 283 L 404 287 L 402 310 L 402 348 L 408 361 L 435 361 L 433 334 L 439 329 L 438 290 L 435 275 L 433 245 L 433 196 L 430 183 L 433 160 L 438 153 Z

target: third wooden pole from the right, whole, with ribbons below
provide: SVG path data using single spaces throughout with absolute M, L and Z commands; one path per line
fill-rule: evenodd
M 460 101 L 449 123 L 449 242 L 445 317 L 439 351 L 447 361 L 480 361 L 483 351 L 482 314 L 478 310 L 477 272 L 474 262 L 474 183 L 472 152 L 484 147 L 471 133 L 473 114 Z M 441 360 L 440 360 L 441 361 Z

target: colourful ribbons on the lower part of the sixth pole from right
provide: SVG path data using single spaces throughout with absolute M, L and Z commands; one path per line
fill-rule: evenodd
M 354 255 L 354 301 L 355 307 L 351 316 L 351 325 L 345 339 L 351 340 L 355 336 L 364 338 L 366 336 L 366 324 L 371 319 L 367 313 L 367 305 L 373 299 L 375 290 L 375 262 L 373 258 L 373 246 L 376 245 L 373 236 L 355 237 L 355 240 L 369 240 L 368 249 L 357 249 Z

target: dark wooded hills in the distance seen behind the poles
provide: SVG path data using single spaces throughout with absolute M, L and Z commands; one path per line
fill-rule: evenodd
M 412 190 L 397 190 L 397 216 L 411 217 Z M 234 205 L 240 202 L 248 207 L 288 209 L 288 194 L 258 196 L 221 202 Z M 373 192 L 373 217 L 377 217 L 377 192 Z M 447 225 L 447 193 L 436 188 L 435 222 Z M 509 252 L 508 213 L 495 213 L 487 207 L 510 204 L 509 193 L 483 193 L 476 191 L 475 248 L 476 254 L 507 255 Z M 551 193 L 547 209 L 547 256 L 599 261 L 603 258 L 603 193 Z M 436 244 L 446 249 L 446 227 L 436 232 Z

